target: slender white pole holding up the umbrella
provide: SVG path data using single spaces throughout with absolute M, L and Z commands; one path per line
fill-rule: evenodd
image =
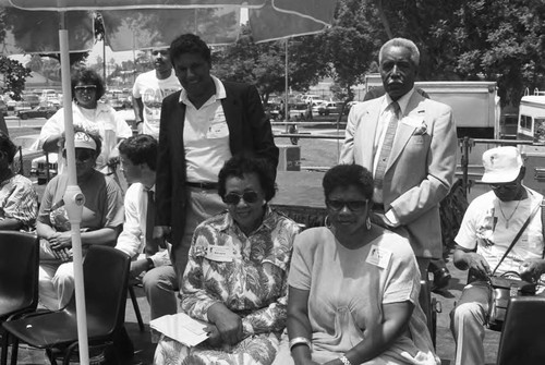
M 85 290 L 83 285 L 83 256 L 82 256 L 82 236 L 80 227 L 82 222 L 83 205 L 85 197 L 77 186 L 75 170 L 75 149 L 74 149 L 74 126 L 72 121 L 72 87 L 70 77 L 70 46 L 69 35 L 65 24 L 65 13 L 61 12 L 59 27 L 59 44 L 61 50 L 61 80 L 64 109 L 64 133 L 68 161 L 69 183 L 64 193 L 64 207 L 66 209 L 71 230 L 72 230 L 72 252 L 74 256 L 74 287 L 75 287 L 75 307 L 77 318 L 77 340 L 80 348 L 80 364 L 89 364 L 89 349 L 87 341 L 87 315 L 85 309 Z

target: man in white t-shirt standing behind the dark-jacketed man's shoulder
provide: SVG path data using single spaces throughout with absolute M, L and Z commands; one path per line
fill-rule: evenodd
M 159 138 L 159 119 L 162 99 L 181 86 L 172 72 L 168 48 L 152 49 L 155 70 L 145 72 L 134 82 L 133 108 L 138 134 Z

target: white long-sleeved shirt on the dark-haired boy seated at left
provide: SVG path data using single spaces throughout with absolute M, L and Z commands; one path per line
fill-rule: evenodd
M 150 191 L 155 192 L 155 185 Z M 133 183 L 125 193 L 125 222 L 123 232 L 118 238 L 116 248 L 124 252 L 136 259 L 145 258 L 144 248 L 146 247 L 146 212 L 147 212 L 147 192 L 148 190 L 142 183 Z M 168 244 L 170 248 L 170 244 Z M 172 265 L 170 261 L 169 250 L 159 247 L 159 251 L 150 256 L 155 267 Z

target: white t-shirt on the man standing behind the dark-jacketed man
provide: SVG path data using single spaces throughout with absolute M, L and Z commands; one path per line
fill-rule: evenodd
M 159 138 L 159 123 L 161 104 L 170 94 L 178 92 L 182 86 L 173 72 L 165 80 L 157 78 L 155 70 L 140 74 L 133 86 L 133 97 L 142 98 L 144 105 L 144 125 L 142 132 Z

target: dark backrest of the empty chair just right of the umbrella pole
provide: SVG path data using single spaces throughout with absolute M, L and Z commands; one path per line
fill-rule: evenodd
M 123 326 L 131 258 L 108 246 L 93 245 L 83 261 L 87 321 L 96 320 L 112 332 Z M 75 313 L 75 295 L 66 311 Z

